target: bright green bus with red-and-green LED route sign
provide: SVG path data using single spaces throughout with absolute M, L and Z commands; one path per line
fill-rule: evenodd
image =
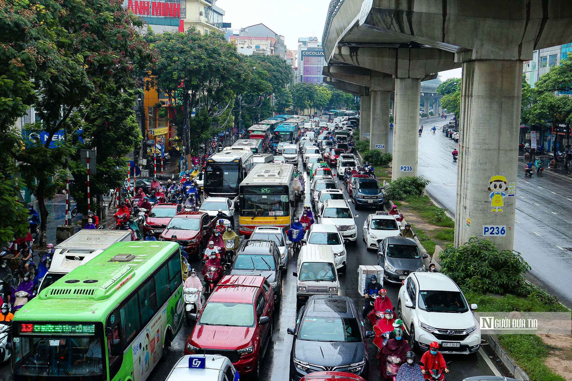
M 11 326 L 18 381 L 143 381 L 182 326 L 178 243 L 115 243 L 26 303 Z

